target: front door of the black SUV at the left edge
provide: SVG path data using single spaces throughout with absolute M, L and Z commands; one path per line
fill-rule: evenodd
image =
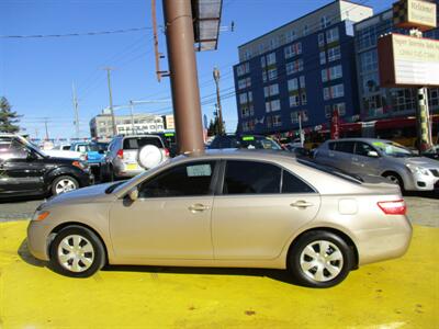
M 0 193 L 25 195 L 44 193 L 43 159 L 15 138 L 0 145 Z

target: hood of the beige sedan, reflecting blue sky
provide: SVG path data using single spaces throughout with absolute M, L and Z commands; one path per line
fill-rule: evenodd
M 82 188 L 71 192 L 63 193 L 54 196 L 47 201 L 47 206 L 55 204 L 77 204 L 77 203 L 90 203 L 90 202 L 110 202 L 115 198 L 113 194 L 106 194 L 105 190 L 114 184 L 105 183 L 92 185 L 89 188 Z

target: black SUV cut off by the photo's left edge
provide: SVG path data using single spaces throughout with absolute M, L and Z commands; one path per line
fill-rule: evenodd
M 0 198 L 58 195 L 92 182 L 79 159 L 50 158 L 21 136 L 0 134 Z

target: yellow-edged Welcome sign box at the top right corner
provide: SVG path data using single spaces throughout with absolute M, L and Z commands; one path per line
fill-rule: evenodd
M 423 0 L 401 0 L 393 4 L 393 20 L 396 27 L 435 29 L 437 23 L 436 3 Z

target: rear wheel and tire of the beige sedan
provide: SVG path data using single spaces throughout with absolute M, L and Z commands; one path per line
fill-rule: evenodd
M 318 288 L 339 284 L 353 265 L 351 248 L 342 238 L 325 230 L 301 236 L 292 245 L 288 259 L 288 270 L 296 283 Z

